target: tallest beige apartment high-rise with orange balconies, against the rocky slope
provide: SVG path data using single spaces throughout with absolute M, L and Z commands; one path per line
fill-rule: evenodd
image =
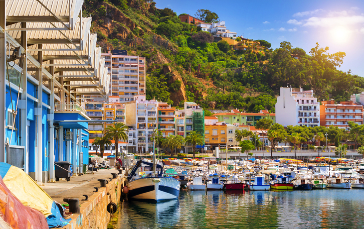
M 102 53 L 110 78 L 109 96 L 118 96 L 120 103 L 134 100 L 136 95 L 145 95 L 145 58 L 120 55 L 120 50 Z

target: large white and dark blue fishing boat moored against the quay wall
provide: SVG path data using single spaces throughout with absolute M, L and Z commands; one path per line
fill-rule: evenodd
M 139 176 L 139 167 L 142 164 L 145 172 L 144 175 Z M 177 199 L 180 195 L 180 182 L 173 177 L 163 177 L 162 163 L 138 161 L 129 173 L 128 181 L 128 196 L 131 199 L 160 202 Z

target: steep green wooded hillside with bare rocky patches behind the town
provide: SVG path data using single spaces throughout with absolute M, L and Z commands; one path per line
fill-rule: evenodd
M 274 112 L 280 87 L 313 89 L 321 100 L 337 101 L 364 91 L 361 77 L 336 69 L 345 53 L 330 54 L 319 44 L 308 54 L 286 41 L 265 54 L 233 50 L 181 22 L 173 10 L 157 10 L 145 0 L 85 0 L 83 15 L 92 16 L 91 30 L 104 52 L 126 49 L 146 57 L 147 99 L 177 107 L 194 101 L 203 108 Z

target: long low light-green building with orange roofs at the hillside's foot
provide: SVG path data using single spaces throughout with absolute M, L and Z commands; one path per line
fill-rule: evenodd
M 255 126 L 256 122 L 262 118 L 271 119 L 273 124 L 276 121 L 275 114 L 268 111 L 260 111 L 259 113 L 243 113 L 238 110 L 231 110 L 230 113 L 213 114 L 218 118 L 218 121 L 224 121 L 235 125 Z

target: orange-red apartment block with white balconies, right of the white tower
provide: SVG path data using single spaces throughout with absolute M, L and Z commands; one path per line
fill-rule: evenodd
M 352 100 L 336 104 L 335 100 L 323 101 L 320 105 L 320 122 L 323 126 L 338 126 L 350 130 L 349 121 L 363 124 L 363 105 Z

